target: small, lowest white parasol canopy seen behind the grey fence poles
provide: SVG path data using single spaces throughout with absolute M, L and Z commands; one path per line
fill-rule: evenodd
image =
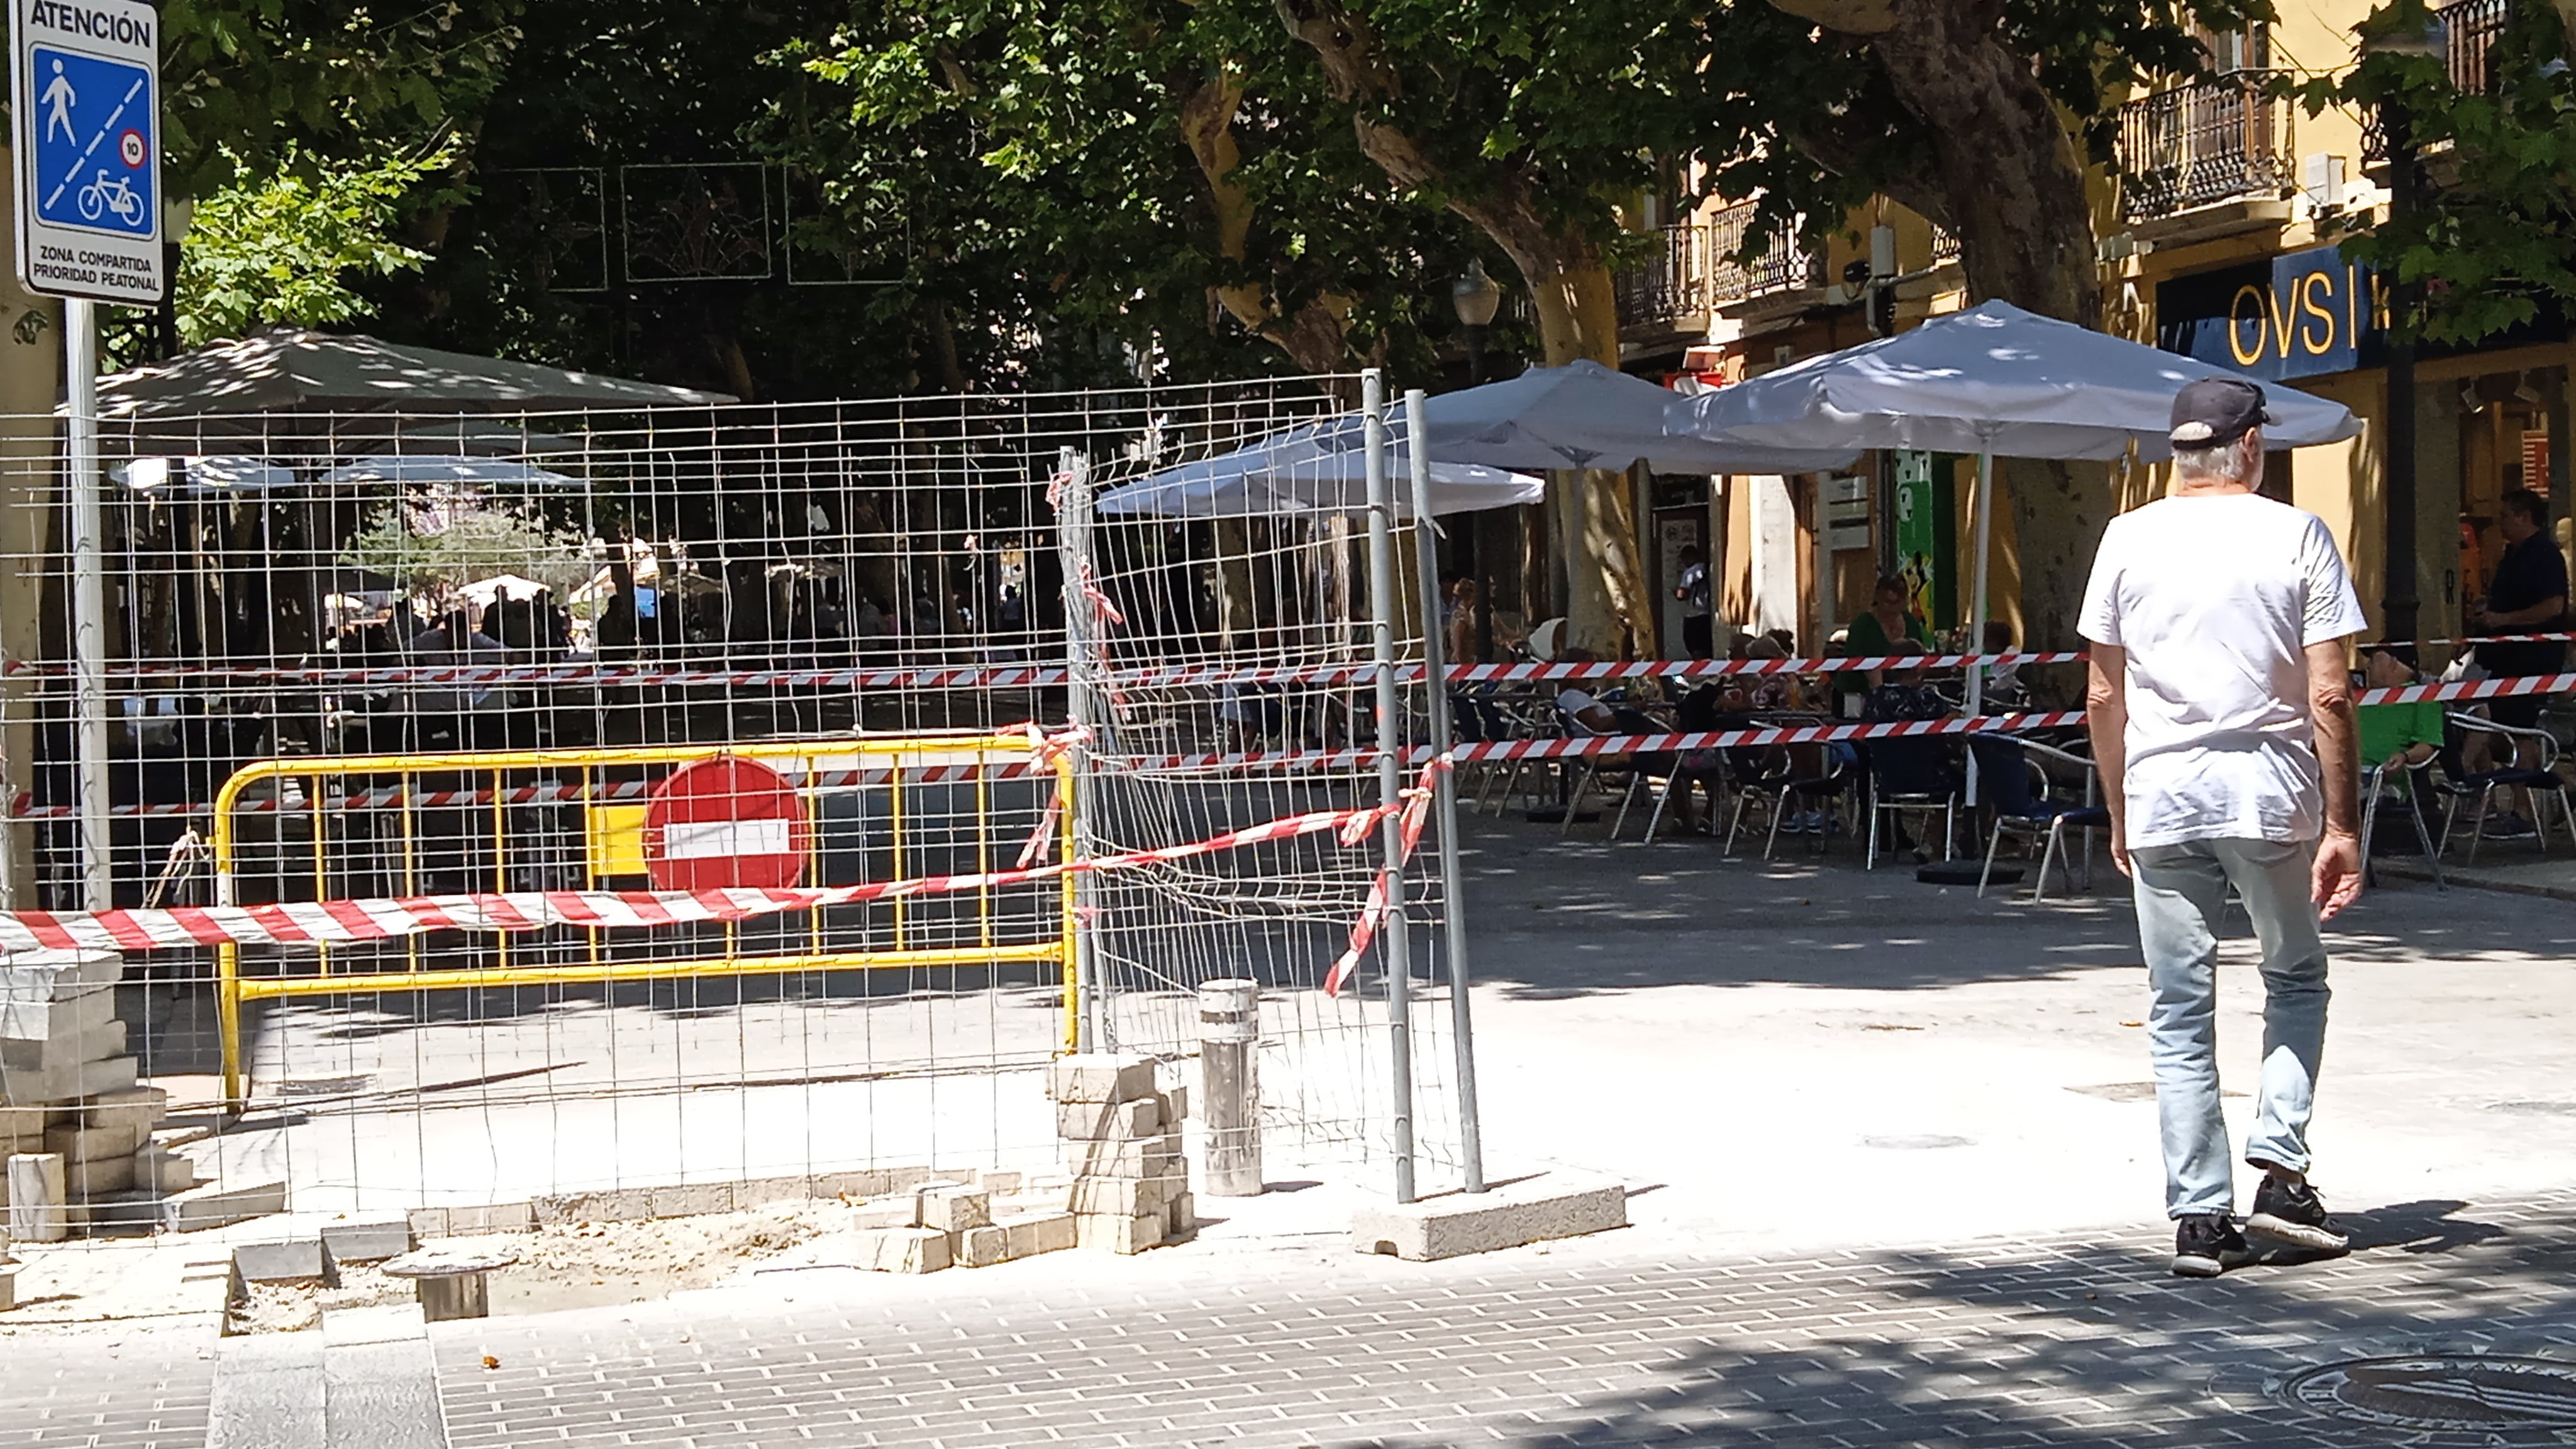
M 1412 467 L 1388 428 L 1386 472 Z M 1499 467 L 1432 462 L 1432 513 L 1468 513 L 1538 503 L 1546 480 Z M 1368 513 L 1368 433 L 1358 415 L 1288 428 L 1213 459 L 1175 467 L 1113 487 L 1095 503 L 1100 513 L 1159 518 L 1242 518 L 1247 513 Z M 1396 516 L 1412 516 L 1412 498 L 1396 498 Z

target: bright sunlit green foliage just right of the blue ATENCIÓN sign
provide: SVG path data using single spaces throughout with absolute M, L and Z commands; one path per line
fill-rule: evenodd
M 392 276 L 430 260 L 392 232 L 420 183 L 456 162 L 456 147 L 340 165 L 289 144 L 265 175 L 232 160 L 232 183 L 196 204 L 180 250 L 178 333 L 191 348 L 263 322 L 363 315 L 368 302 L 353 291 L 353 273 Z

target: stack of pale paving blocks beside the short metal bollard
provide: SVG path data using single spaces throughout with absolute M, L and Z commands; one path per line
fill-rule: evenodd
M 1046 1096 L 1074 1176 L 1077 1245 L 1144 1253 L 1198 1230 L 1180 1150 L 1188 1088 L 1157 1091 L 1151 1057 L 1079 1052 L 1054 1060 Z

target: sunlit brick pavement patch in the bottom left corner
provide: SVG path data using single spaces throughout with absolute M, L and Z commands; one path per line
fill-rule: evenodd
M 0 1449 L 196 1449 L 214 1390 L 214 1315 L 0 1336 Z

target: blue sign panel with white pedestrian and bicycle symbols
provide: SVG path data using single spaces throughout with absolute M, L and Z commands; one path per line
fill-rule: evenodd
M 54 227 L 149 237 L 160 222 L 152 70 L 31 46 L 23 129 L 36 131 L 36 217 Z

